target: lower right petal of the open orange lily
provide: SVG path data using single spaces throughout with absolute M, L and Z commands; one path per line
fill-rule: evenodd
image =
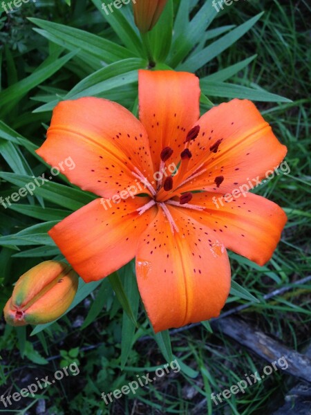
M 191 218 L 207 225 L 226 248 L 260 266 L 271 259 L 287 221 L 279 205 L 252 193 L 225 199 L 223 194 L 201 192 L 191 203 L 205 208 L 191 211 Z

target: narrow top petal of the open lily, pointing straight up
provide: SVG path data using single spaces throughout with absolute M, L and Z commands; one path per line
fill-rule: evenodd
M 200 86 L 191 73 L 173 71 L 139 71 L 140 121 L 147 130 L 155 172 L 160 154 L 173 149 L 167 163 L 180 161 L 187 133 L 200 116 Z

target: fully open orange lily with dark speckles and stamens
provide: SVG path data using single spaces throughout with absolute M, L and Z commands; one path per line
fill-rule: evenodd
M 135 257 L 156 332 L 217 317 L 230 288 L 225 248 L 263 265 L 287 220 L 251 193 L 216 206 L 213 198 L 265 177 L 287 149 L 252 102 L 232 100 L 199 118 L 199 98 L 191 73 L 140 71 L 140 120 L 109 100 L 61 102 L 37 150 L 50 165 L 72 157 L 70 182 L 101 196 L 50 237 L 86 282 Z M 158 172 L 167 176 L 155 180 Z

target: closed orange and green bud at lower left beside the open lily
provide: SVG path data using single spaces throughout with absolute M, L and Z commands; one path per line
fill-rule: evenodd
M 59 261 L 45 261 L 21 275 L 3 313 L 11 326 L 45 324 L 60 317 L 75 298 L 78 275 Z

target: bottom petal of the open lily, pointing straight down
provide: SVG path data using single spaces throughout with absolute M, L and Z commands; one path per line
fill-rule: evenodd
M 217 317 L 230 289 L 225 247 L 182 208 L 169 206 L 179 232 L 159 209 L 136 255 L 142 301 L 154 331 Z

